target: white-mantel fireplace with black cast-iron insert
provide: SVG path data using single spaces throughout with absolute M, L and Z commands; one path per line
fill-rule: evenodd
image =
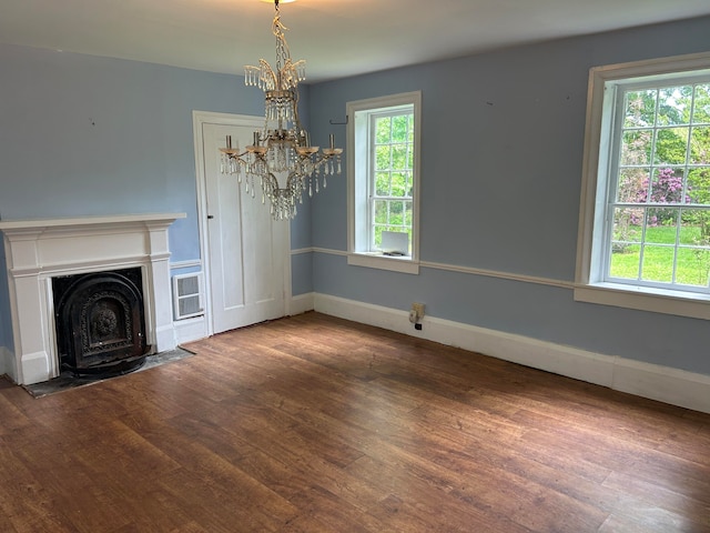
M 168 228 L 184 217 L 184 213 L 151 213 L 0 221 L 13 341 L 10 353 L 6 350 L 0 356 L 4 356 L 9 376 L 19 384 L 40 383 L 58 376 L 65 361 L 73 366 L 93 366 L 120 352 L 120 358 L 130 352 L 126 359 L 131 359 L 145 354 L 139 355 L 140 351 L 173 350 L 176 342 Z M 85 342 L 81 341 L 85 345 L 80 348 L 79 359 L 73 355 L 73 360 L 64 360 L 60 352 L 79 341 L 74 339 L 73 325 L 64 333 L 57 329 L 57 312 L 61 318 L 61 311 L 55 304 L 62 296 L 54 292 L 62 292 L 63 283 L 95 280 L 106 272 L 131 269 L 135 270 L 124 278 L 134 288 L 128 289 L 128 283 L 121 288 L 112 285 L 109 298 L 100 291 L 89 296 L 88 304 L 80 304 L 80 308 L 88 305 L 84 320 L 93 321 L 94 330 L 84 332 L 88 336 Z M 61 281 L 74 275 L 79 278 L 72 282 Z M 140 312 L 133 315 L 131 311 L 126 321 L 122 310 L 133 298 L 142 300 L 142 319 Z M 78 334 L 82 334 L 80 329 Z M 112 346 L 109 352 L 113 349 L 115 352 L 98 355 L 106 344 Z

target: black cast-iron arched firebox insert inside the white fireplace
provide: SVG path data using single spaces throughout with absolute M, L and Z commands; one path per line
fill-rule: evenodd
M 145 362 L 141 268 L 52 278 L 60 365 L 75 374 L 120 374 Z

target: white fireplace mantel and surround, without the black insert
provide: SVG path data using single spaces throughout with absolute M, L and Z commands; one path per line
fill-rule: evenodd
M 0 221 L 7 261 L 13 349 L 0 352 L 19 384 L 60 373 L 52 278 L 140 266 L 146 342 L 175 348 L 168 229 L 185 213 Z

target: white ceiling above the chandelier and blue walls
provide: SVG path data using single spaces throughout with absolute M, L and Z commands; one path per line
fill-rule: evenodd
M 709 0 L 281 0 L 307 81 L 710 14 Z M 275 58 L 273 0 L 0 0 L 0 42 L 243 72 Z

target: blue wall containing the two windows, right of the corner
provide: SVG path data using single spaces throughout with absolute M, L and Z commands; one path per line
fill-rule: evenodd
M 578 303 L 571 290 L 589 68 L 708 51 L 709 36 L 702 18 L 312 87 L 314 134 L 348 101 L 420 90 L 420 259 L 503 275 L 398 274 L 315 253 L 314 290 L 403 311 L 420 301 L 437 318 L 710 374 L 707 321 Z M 332 181 L 339 200 L 315 199 L 313 245 L 343 251 L 346 185 Z

